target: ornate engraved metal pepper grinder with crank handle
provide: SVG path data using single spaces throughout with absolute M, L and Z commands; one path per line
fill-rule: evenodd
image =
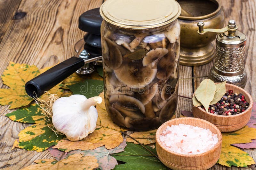
M 244 70 L 246 35 L 238 31 L 234 20 L 228 21 L 228 26 L 221 29 L 204 29 L 204 22 L 198 22 L 198 34 L 216 32 L 216 55 L 209 79 L 214 82 L 234 84 L 245 87 L 247 75 Z

